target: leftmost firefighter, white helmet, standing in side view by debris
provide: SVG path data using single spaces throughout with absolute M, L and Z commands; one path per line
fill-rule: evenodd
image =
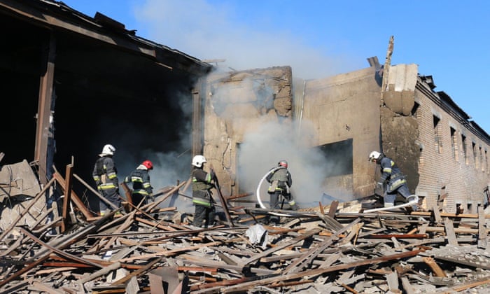
M 114 160 L 112 159 L 116 148 L 111 144 L 106 144 L 102 148 L 102 153 L 99 154 L 99 158 L 95 162 L 94 171 L 92 177 L 97 185 L 97 190 L 102 194 L 106 200 L 109 200 L 116 207 L 120 207 L 121 199 L 119 196 L 119 181 L 118 171 Z M 105 202 L 100 202 L 100 214 L 104 216 L 106 211 L 113 210 L 113 207 L 108 207 Z

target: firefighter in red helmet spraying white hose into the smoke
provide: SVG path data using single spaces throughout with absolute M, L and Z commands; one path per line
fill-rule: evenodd
M 286 162 L 286 160 L 279 161 L 277 167 L 273 167 L 265 179 L 270 183 L 267 193 L 269 193 L 270 196 L 271 209 L 281 209 L 281 203 L 279 202 L 280 195 L 282 195 L 288 202 L 290 209 L 298 209 L 297 204 L 290 193 L 293 179 L 288 170 L 288 162 Z M 272 219 L 271 221 L 274 220 Z

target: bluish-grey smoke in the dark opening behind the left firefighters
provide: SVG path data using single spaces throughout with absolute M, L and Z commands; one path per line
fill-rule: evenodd
M 167 134 L 165 120 L 148 124 L 160 126 L 159 130 L 152 128 L 145 130 L 137 128 L 132 123 L 121 126 L 125 134 L 131 134 L 125 140 L 116 144 L 116 155 L 114 160 L 118 167 L 118 179 L 120 183 L 124 181 L 132 170 L 136 169 L 144 160 L 151 160 L 153 170 L 149 172 L 153 193 L 160 193 L 162 190 L 173 188 L 179 183 L 188 181 L 191 172 L 192 154 L 190 150 L 190 134 L 192 122 L 192 99 L 188 93 L 176 90 L 169 97 L 174 99 L 172 107 L 174 113 L 180 112 L 178 128 Z M 159 118 L 155 118 L 158 120 Z M 162 118 L 163 119 L 163 118 Z M 122 122 L 119 122 L 121 124 Z M 166 136 L 169 136 L 166 138 Z M 125 138 L 125 137 L 122 137 Z M 142 147 L 146 145 L 147 147 Z M 131 188 L 131 184 L 129 185 Z M 184 186 L 185 187 L 185 186 Z M 123 194 L 123 190 L 120 190 Z M 178 211 L 190 212 L 193 204 L 190 201 L 192 193 L 190 188 L 180 191 L 181 195 L 168 197 L 162 202 L 161 207 L 177 207 Z M 163 194 L 163 195 L 166 195 Z M 186 197 L 188 196 L 188 197 Z

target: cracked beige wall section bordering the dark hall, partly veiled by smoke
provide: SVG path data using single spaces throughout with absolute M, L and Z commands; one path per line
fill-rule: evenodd
M 293 119 L 292 71 L 289 66 L 215 73 L 207 77 L 204 110 L 204 155 L 221 181 L 223 193 L 231 195 L 255 190 L 257 181 L 247 185 L 239 169 L 260 158 L 240 159 L 246 134 L 261 125 L 291 125 Z M 265 133 L 264 133 L 265 134 Z M 273 137 L 269 138 L 271 143 Z M 265 139 L 267 141 L 267 139 Z M 262 152 L 262 153 L 265 153 Z M 276 164 L 280 158 L 271 158 Z M 255 176 L 265 169 L 257 167 Z M 260 177 L 259 177 L 260 179 Z

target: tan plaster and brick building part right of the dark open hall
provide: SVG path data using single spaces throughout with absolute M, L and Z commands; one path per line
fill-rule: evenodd
M 255 191 L 267 167 L 286 158 L 298 201 L 358 199 L 377 193 L 379 170 L 367 155 L 383 151 L 423 207 L 474 213 L 486 204 L 489 135 L 416 64 L 368 62 L 319 80 L 294 80 L 288 66 L 211 75 L 204 154 L 223 167 L 221 185 Z

